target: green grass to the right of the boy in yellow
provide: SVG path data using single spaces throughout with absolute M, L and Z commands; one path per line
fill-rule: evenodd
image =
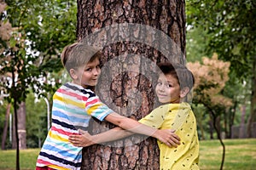
M 201 170 L 219 169 L 223 148 L 218 140 L 200 142 Z M 256 169 L 256 139 L 225 139 L 225 170 Z

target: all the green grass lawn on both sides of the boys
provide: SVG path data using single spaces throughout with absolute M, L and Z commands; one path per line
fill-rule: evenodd
M 218 170 L 222 146 L 218 140 L 200 141 L 201 170 Z M 225 139 L 224 170 L 256 169 L 256 139 Z M 34 170 L 39 149 L 20 150 L 20 169 Z M 16 150 L 0 150 L 0 170 L 14 170 Z

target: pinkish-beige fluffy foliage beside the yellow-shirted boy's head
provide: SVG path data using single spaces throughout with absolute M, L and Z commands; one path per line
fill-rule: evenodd
M 196 103 L 202 101 L 209 105 L 223 105 L 230 107 L 231 99 L 221 94 L 225 83 L 229 80 L 230 62 L 218 60 L 218 55 L 213 54 L 212 59 L 202 58 L 202 64 L 199 61 L 188 63 L 189 69 L 195 75 L 195 95 Z

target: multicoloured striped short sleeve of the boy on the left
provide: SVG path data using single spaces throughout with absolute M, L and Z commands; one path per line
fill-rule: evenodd
M 86 104 L 85 104 L 85 111 L 90 116 L 96 117 L 96 119 L 103 121 L 106 116 L 110 113 L 113 113 L 108 105 L 102 103 L 102 101 L 98 98 L 98 96 L 91 96 Z

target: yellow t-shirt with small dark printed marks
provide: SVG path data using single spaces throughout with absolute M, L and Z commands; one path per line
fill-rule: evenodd
M 139 122 L 159 129 L 174 129 L 181 139 L 177 148 L 158 141 L 160 170 L 199 169 L 199 141 L 196 120 L 188 103 L 161 105 Z

